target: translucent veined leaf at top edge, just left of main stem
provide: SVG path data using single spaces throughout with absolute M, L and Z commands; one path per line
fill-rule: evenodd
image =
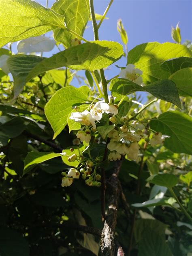
M 65 17 L 66 27 L 73 32 L 83 35 L 85 26 L 90 17 L 90 6 L 88 0 L 58 0 L 51 7 L 55 12 Z M 71 40 L 75 38 L 73 34 L 63 28 L 54 30 L 55 40 L 71 47 Z

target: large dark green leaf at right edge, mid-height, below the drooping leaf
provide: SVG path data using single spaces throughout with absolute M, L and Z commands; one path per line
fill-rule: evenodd
M 170 136 L 164 146 L 175 153 L 192 154 L 192 117 L 179 111 L 162 113 L 149 122 L 151 129 Z

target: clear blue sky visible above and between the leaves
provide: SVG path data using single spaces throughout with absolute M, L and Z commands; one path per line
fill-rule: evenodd
M 36 0 L 40 4 L 46 4 L 46 0 Z M 51 7 L 55 0 L 49 0 Z M 102 14 L 109 0 L 94 0 L 95 12 Z M 121 18 L 124 28 L 128 33 L 128 50 L 141 43 L 157 41 L 160 43 L 173 42 L 171 38 L 171 26 L 176 26 L 180 21 L 182 43 L 192 40 L 192 1 L 191 0 L 114 0 L 109 12 L 108 20 L 102 23 L 99 30 L 100 40 L 117 41 L 121 43 L 116 29 L 117 19 Z M 84 37 L 93 40 L 92 24 L 85 30 Z M 14 47 L 15 48 L 15 47 Z M 58 52 L 55 47 L 50 53 L 43 56 L 49 57 Z M 117 62 L 119 66 L 126 66 L 126 59 Z M 106 71 L 107 79 L 117 75 L 119 69 L 114 66 Z M 82 73 L 81 73 L 82 74 Z M 76 83 L 76 79 L 72 82 Z M 75 85 L 75 84 L 74 84 Z

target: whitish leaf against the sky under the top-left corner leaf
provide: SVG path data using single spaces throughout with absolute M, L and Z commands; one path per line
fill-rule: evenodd
M 22 53 L 51 51 L 55 41 L 46 36 L 36 36 L 21 40 L 17 43 L 17 51 Z

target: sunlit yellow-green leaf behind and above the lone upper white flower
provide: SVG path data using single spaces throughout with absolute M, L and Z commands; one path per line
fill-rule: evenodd
M 167 79 L 170 73 L 162 70 L 165 60 L 192 57 L 192 52 L 184 45 L 175 43 L 144 43 L 137 45 L 128 53 L 128 64 L 134 64 L 143 71 L 143 82 L 151 83 L 159 79 Z

